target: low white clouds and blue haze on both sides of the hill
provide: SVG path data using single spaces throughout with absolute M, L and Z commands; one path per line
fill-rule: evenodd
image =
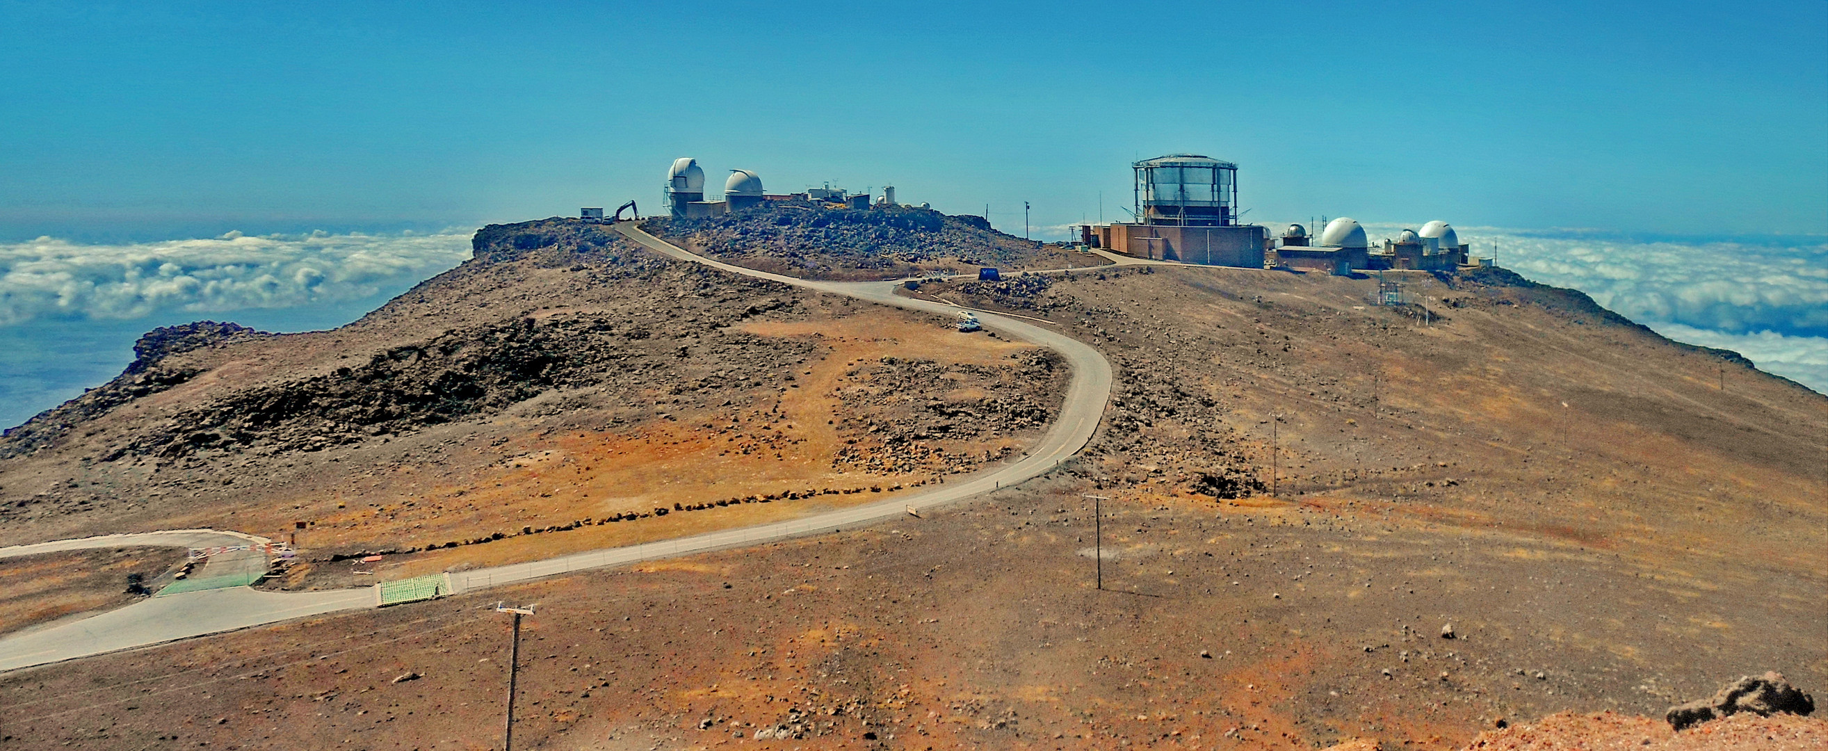
M 1280 223 L 1269 225 L 1272 232 Z M 1366 223 L 1373 239 L 1402 225 Z M 1064 239 L 1053 228 L 1046 239 Z M 106 384 L 161 325 L 335 329 L 470 256 L 470 228 L 0 243 L 0 426 Z M 1828 236 L 1457 227 L 1473 256 L 1828 393 Z

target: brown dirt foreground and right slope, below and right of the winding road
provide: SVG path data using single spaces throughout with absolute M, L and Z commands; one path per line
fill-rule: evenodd
M 1579 300 L 1419 283 L 1455 300 L 1433 325 L 1369 280 L 1227 269 L 969 300 L 1113 358 L 1084 460 L 927 519 L 5 674 L 4 733 L 492 747 L 499 599 L 537 603 L 515 735 L 548 749 L 1453 749 L 1771 669 L 1819 696 L 1828 400 L 1722 391 Z M 1205 493 L 1269 484 L 1272 415 L 1280 497 Z

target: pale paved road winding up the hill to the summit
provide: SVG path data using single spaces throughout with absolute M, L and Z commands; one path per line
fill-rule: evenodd
M 642 232 L 638 227 L 634 227 L 634 223 L 618 223 L 616 230 L 627 236 L 629 239 L 640 243 L 642 247 L 658 252 L 662 256 L 676 258 L 680 261 L 704 263 L 707 267 L 722 269 L 731 274 L 773 280 L 786 285 L 812 289 L 817 292 L 843 294 L 857 300 L 903 307 L 910 311 L 940 312 L 947 316 L 960 311 L 954 305 L 896 296 L 894 291 L 898 287 L 898 281 L 797 280 L 792 276 L 742 269 L 737 265 L 713 261 L 709 258 L 686 252 L 660 238 Z M 978 312 L 978 322 L 989 331 L 996 331 L 1000 334 L 1026 342 L 1035 342 L 1060 353 L 1073 373 L 1073 378 L 1066 389 L 1066 400 L 1060 406 L 1060 415 L 1055 418 L 1053 426 L 1047 429 L 1047 435 L 1040 440 L 1040 444 L 1035 446 L 1016 462 L 1000 466 L 996 470 L 982 471 L 971 477 L 962 477 L 958 479 L 958 482 L 947 482 L 938 488 L 919 492 L 916 495 L 879 501 L 866 506 L 841 508 L 804 519 L 782 521 L 773 524 L 709 532 L 695 537 L 680 537 L 658 543 L 632 545 L 623 548 L 592 550 L 585 554 L 559 555 L 545 561 L 515 563 L 508 566 L 453 572 L 452 583 L 455 585 L 457 592 L 468 592 L 468 590 L 510 585 L 510 583 L 539 579 L 554 574 L 567 574 L 585 568 L 614 566 L 614 565 L 625 565 L 656 557 L 671 557 L 682 554 L 777 541 L 806 534 L 834 532 L 846 526 L 868 524 L 874 521 L 903 515 L 907 513 L 909 508 L 919 512 L 923 508 L 960 501 L 996 488 L 1013 486 L 1055 470 L 1057 466 L 1060 466 L 1060 462 L 1077 455 L 1079 450 L 1082 450 L 1086 442 L 1091 440 L 1091 433 L 1099 428 L 1099 420 L 1102 420 L 1104 417 L 1104 406 L 1106 402 L 1110 402 L 1111 395 L 1111 365 L 1095 349 L 1057 331 L 1047 331 L 1033 323 L 1024 323 L 1022 320 L 1016 320 L 1013 316 L 1002 316 L 989 311 L 976 311 L 976 312 Z M 159 539 L 163 539 L 165 543 L 155 543 Z M 212 532 L 212 530 L 106 535 L 106 537 L 88 537 L 80 541 L 57 541 L 57 543 L 0 548 L 0 559 L 9 555 L 29 555 L 37 552 L 121 546 L 121 545 L 207 546 L 207 545 L 194 545 L 196 541 L 203 539 L 214 541 L 208 545 L 241 545 L 250 537 L 234 532 Z M 232 543 L 225 543 L 225 539 L 232 539 Z M 302 616 L 316 616 L 325 612 L 349 610 L 373 605 L 375 605 L 375 594 L 373 588 L 367 587 L 353 590 L 329 590 L 329 592 L 260 592 L 247 587 L 236 587 L 223 590 L 186 592 L 165 598 L 152 598 L 128 605 L 119 610 L 104 612 L 101 616 L 91 616 L 77 621 L 53 623 L 49 627 L 40 627 L 37 630 L 7 636 L 0 640 L 0 671 L 44 665 L 62 660 L 84 658 L 91 654 L 113 652 L 121 649 L 155 645 L 192 636 L 216 634 L 223 630 L 247 629 Z

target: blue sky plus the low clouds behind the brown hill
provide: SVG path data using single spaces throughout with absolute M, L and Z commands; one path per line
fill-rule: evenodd
M 0 422 L 154 325 L 327 327 L 481 223 L 649 208 L 678 155 L 1058 238 L 1168 152 L 1239 163 L 1250 221 L 1446 219 L 1828 389 L 1821 0 L 0 0 Z

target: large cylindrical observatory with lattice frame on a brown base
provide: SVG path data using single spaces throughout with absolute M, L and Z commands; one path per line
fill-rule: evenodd
M 1238 164 L 1170 153 L 1130 166 L 1135 221 L 1086 227 L 1088 245 L 1159 261 L 1263 269 L 1263 227 L 1238 223 Z

